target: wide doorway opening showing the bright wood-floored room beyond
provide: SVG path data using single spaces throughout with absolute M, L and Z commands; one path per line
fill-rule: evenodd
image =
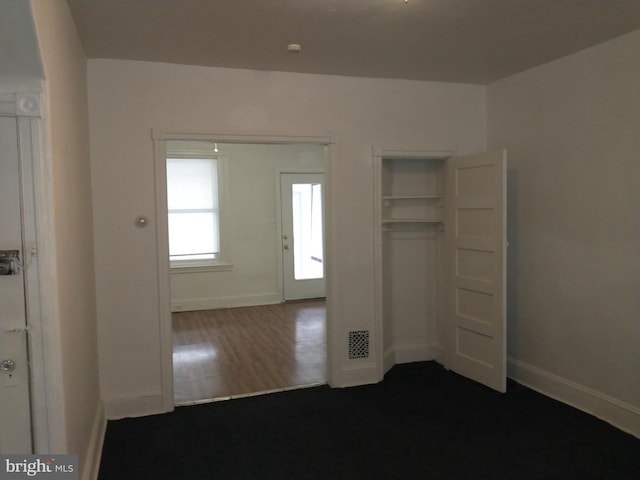
M 162 180 L 158 228 L 159 238 L 167 243 L 170 311 L 164 345 L 169 347 L 171 371 L 165 378 L 171 379 L 173 405 L 326 383 L 326 139 L 254 142 L 246 138 L 167 135 L 161 140 L 156 144 L 162 147 L 162 165 L 159 154 L 156 165 L 164 170 L 158 177 Z M 196 204 L 178 205 L 182 208 L 179 211 L 172 198 L 173 172 L 166 165 L 170 158 L 174 166 L 189 158 L 214 160 L 216 188 L 199 195 Z M 206 162 L 196 163 L 210 170 Z M 203 168 L 199 172 L 196 183 L 202 186 L 206 183 Z M 316 176 L 311 183 L 299 177 L 311 174 Z M 282 194 L 286 190 L 282 181 L 288 178 L 296 180 L 290 209 L 283 206 Z M 183 188 L 179 198 L 184 200 L 194 188 Z M 212 196 L 217 198 L 211 201 Z M 166 202 L 166 209 L 161 200 Z M 289 211 L 298 220 L 293 238 L 285 234 L 288 215 L 283 212 Z M 164 219 L 160 218 L 161 212 L 165 212 Z M 200 227 L 203 215 L 208 215 L 207 221 L 216 224 L 212 237 L 217 238 L 209 247 L 199 242 L 199 251 L 174 249 L 172 228 L 181 225 L 183 233 L 185 228 L 184 223 L 173 221 L 178 214 L 184 214 L 183 219 L 199 215 Z M 303 220 L 302 225 L 299 220 Z M 203 234 L 200 231 L 193 236 L 200 240 Z M 188 239 L 189 235 L 182 237 Z M 303 237 L 310 243 L 302 242 Z M 304 284 L 321 281 L 320 290 L 287 294 L 286 257 L 288 248 L 293 250 L 294 246 L 302 248 L 303 257 L 299 258 L 305 258 L 294 280 Z M 184 256 L 183 261 L 179 255 Z

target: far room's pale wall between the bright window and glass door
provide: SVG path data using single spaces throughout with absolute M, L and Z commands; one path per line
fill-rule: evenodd
M 228 236 L 226 271 L 171 273 L 172 310 L 202 310 L 282 301 L 277 171 L 324 170 L 322 145 L 220 143 L 224 156 Z

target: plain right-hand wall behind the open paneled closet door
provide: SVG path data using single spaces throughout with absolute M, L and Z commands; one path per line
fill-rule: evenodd
M 640 436 L 640 32 L 488 87 L 510 372 Z

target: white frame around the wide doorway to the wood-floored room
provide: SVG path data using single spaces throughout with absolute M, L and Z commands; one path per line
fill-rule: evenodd
M 295 135 L 261 135 L 261 134 L 228 134 L 201 130 L 165 130 L 152 128 L 154 174 L 155 174 L 155 225 L 157 239 L 157 278 L 158 278 L 158 312 L 160 334 L 160 369 L 162 384 L 163 410 L 172 411 L 175 408 L 173 396 L 173 342 L 171 327 L 171 288 L 169 266 L 169 229 L 167 219 L 167 174 L 166 148 L 167 140 L 204 140 L 218 143 L 254 143 L 254 144 L 316 144 L 327 148 L 325 155 L 325 245 L 327 251 L 332 251 L 335 245 L 334 202 L 335 196 L 332 182 L 332 171 L 337 158 L 337 138 L 332 135 L 295 136 Z M 279 191 L 277 192 L 279 195 Z M 332 299 L 337 298 L 334 292 L 335 282 L 331 281 L 333 256 L 328 256 L 325 265 L 325 279 L 327 289 L 326 328 L 327 328 L 327 382 L 331 385 L 338 375 L 333 372 L 333 365 L 337 365 L 338 354 L 334 345 L 337 328 L 334 328 L 335 304 Z M 280 267 L 281 268 L 281 267 Z

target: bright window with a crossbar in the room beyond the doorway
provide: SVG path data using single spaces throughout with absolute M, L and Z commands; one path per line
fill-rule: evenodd
M 167 148 L 169 260 L 172 268 L 220 264 L 222 160 L 172 142 Z

